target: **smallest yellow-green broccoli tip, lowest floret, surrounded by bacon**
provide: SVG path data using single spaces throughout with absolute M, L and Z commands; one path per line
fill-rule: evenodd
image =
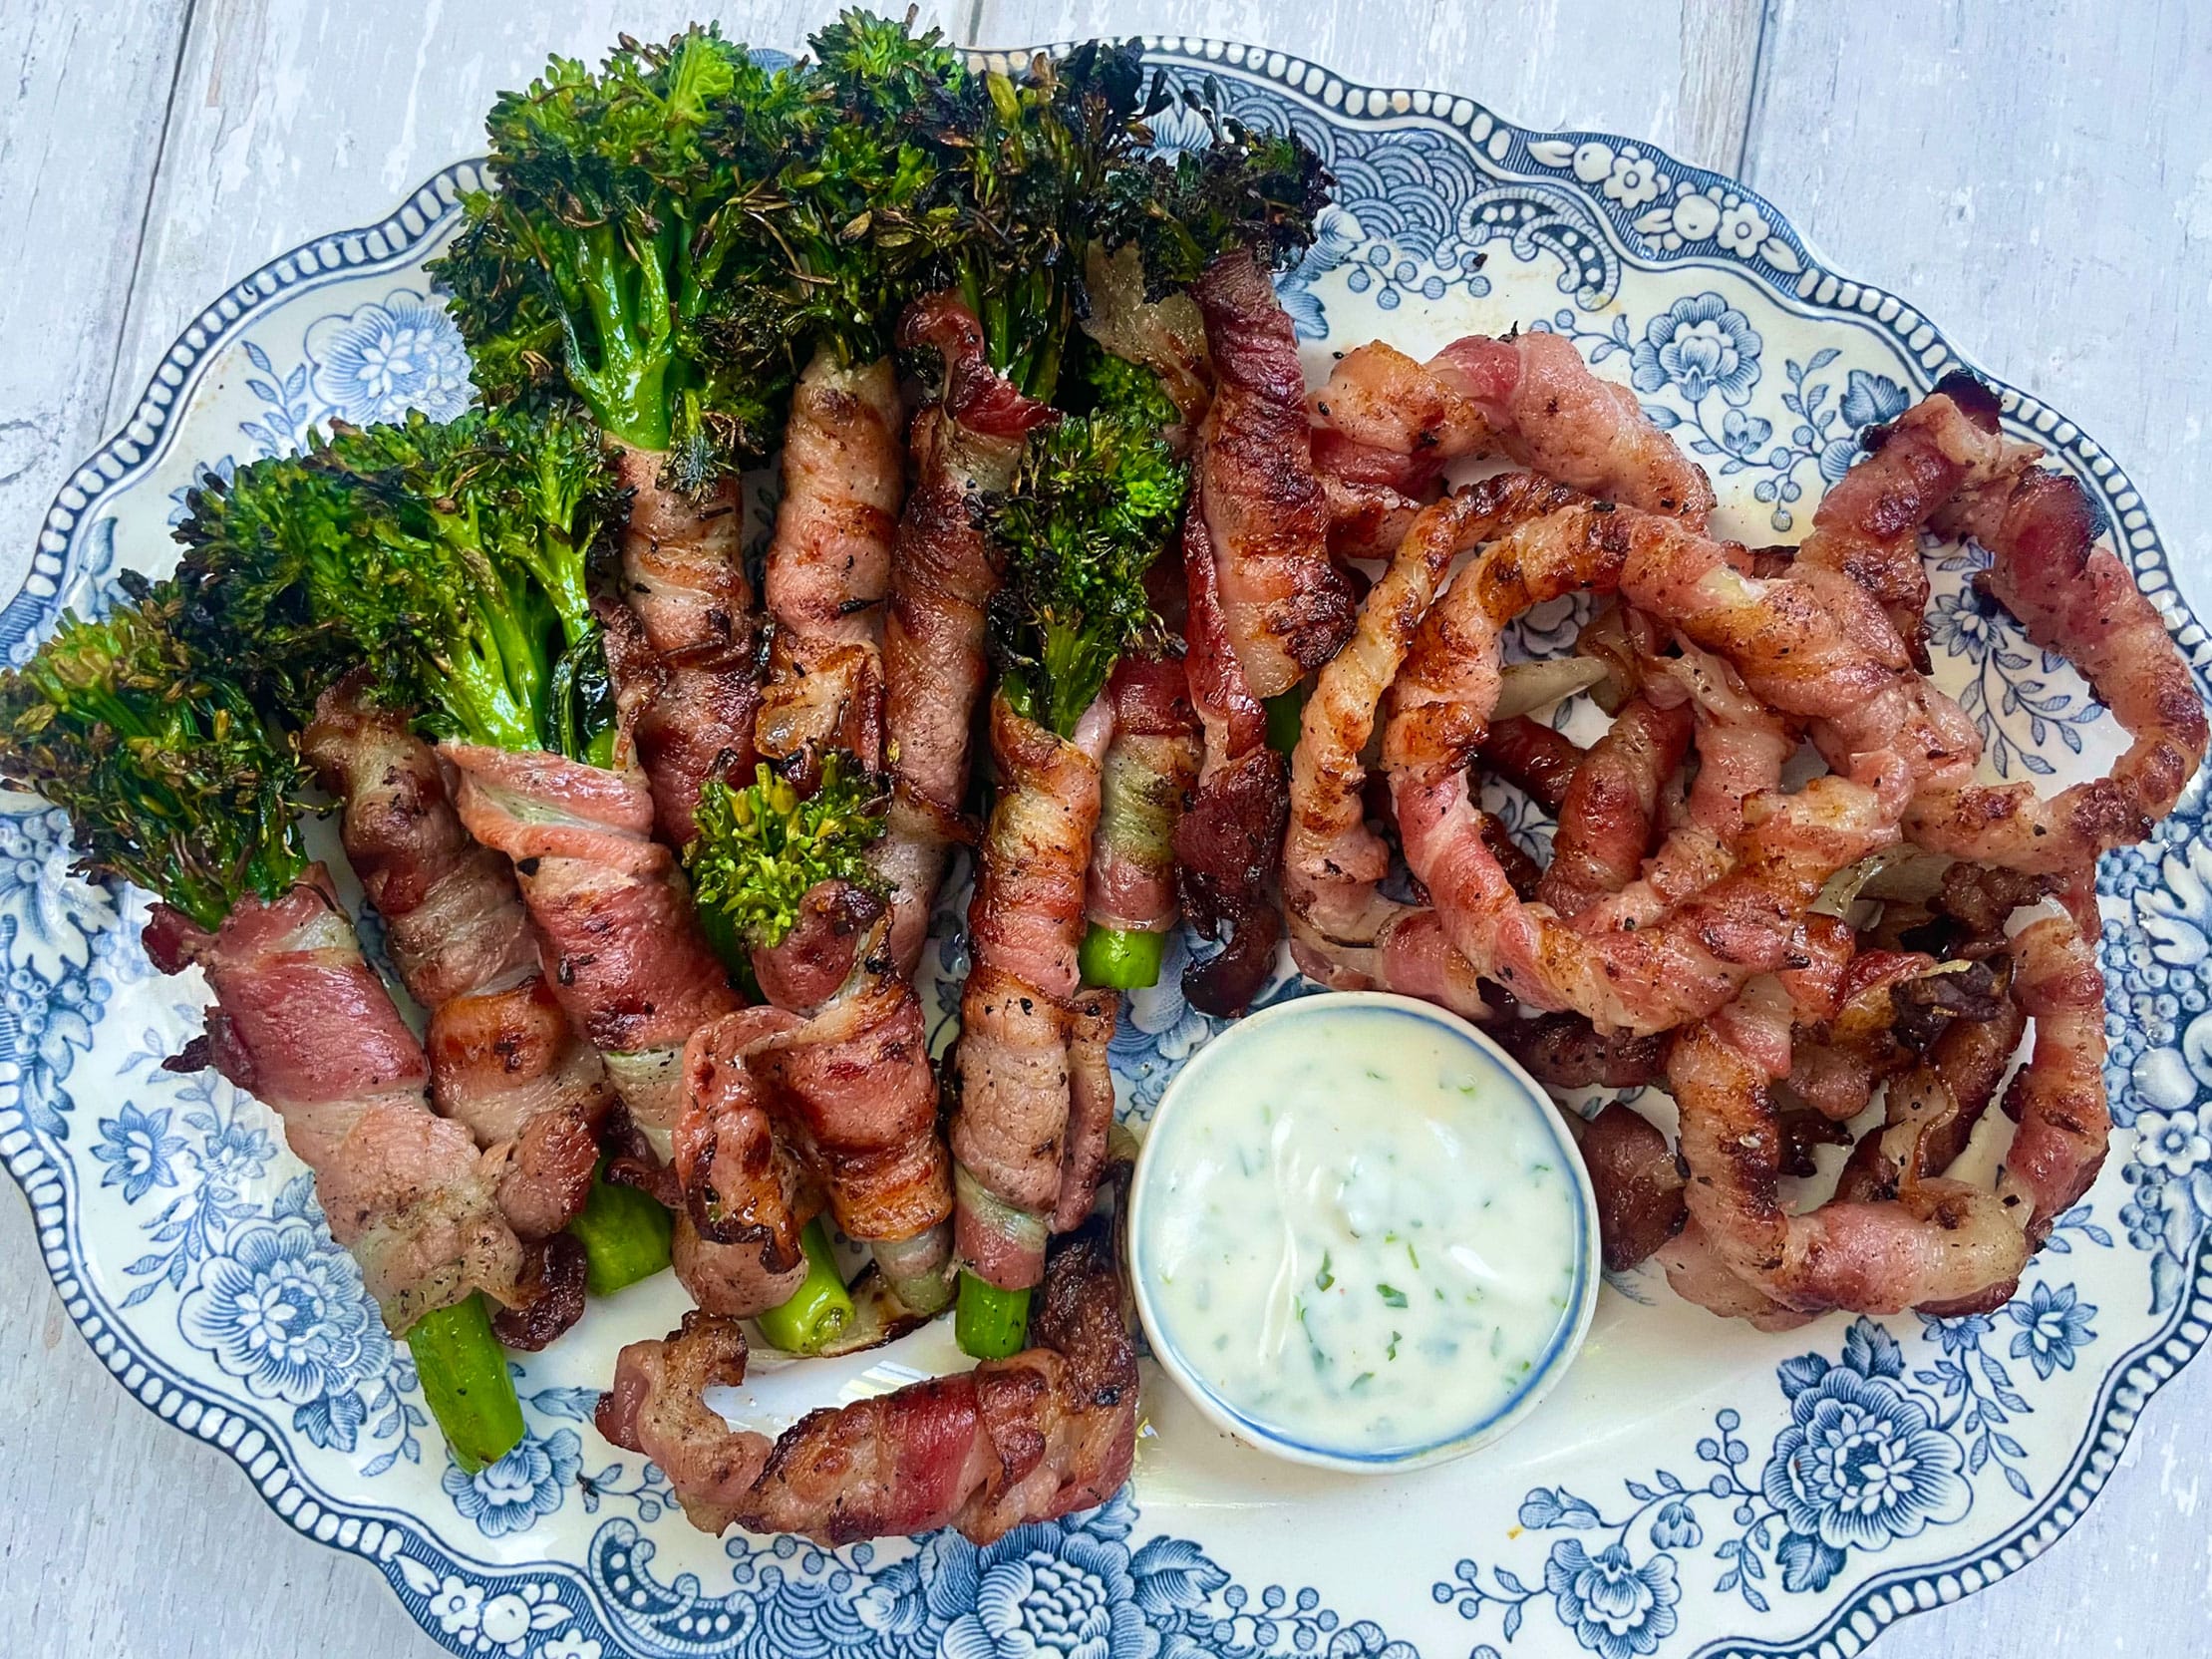
M 774 949 L 816 883 L 845 880 L 885 896 L 867 849 L 887 814 L 880 781 L 843 750 L 823 757 L 821 785 L 805 799 L 768 765 L 741 790 L 708 779 L 699 787 L 699 836 L 684 852 L 692 898 L 701 911 L 719 911 L 750 949 Z

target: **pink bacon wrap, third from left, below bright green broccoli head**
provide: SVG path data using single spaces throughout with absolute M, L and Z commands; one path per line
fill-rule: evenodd
M 644 779 L 535 750 L 453 739 L 440 750 L 460 774 L 460 821 L 515 865 L 553 995 L 666 1155 L 684 1110 L 684 1040 L 739 998 L 675 856 L 650 838 Z

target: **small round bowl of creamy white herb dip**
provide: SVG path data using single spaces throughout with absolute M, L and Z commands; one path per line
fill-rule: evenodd
M 1398 1473 L 1535 1411 L 1597 1307 L 1597 1199 L 1559 1108 L 1458 1015 L 1281 1002 L 1175 1075 L 1128 1197 L 1152 1356 L 1290 1462 Z

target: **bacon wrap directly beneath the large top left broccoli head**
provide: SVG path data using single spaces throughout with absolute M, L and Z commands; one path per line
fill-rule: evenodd
M 659 487 L 666 456 L 615 445 L 630 487 L 622 586 L 659 668 L 635 723 L 661 838 L 692 838 L 699 785 L 717 770 L 752 772 L 761 686 L 752 661 L 752 584 L 739 549 L 739 489 L 717 480 L 703 500 Z

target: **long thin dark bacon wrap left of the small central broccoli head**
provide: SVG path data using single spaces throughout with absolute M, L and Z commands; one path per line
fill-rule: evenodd
M 984 608 L 1000 582 L 982 500 L 1013 487 L 1026 436 L 1060 416 L 984 361 L 982 325 L 949 292 L 909 305 L 898 343 L 933 347 L 945 361 L 945 389 L 909 434 L 914 489 L 898 520 L 883 624 L 894 794 L 876 865 L 894 883 L 891 956 L 911 973 L 951 843 L 967 838 L 960 803 L 987 675 Z

